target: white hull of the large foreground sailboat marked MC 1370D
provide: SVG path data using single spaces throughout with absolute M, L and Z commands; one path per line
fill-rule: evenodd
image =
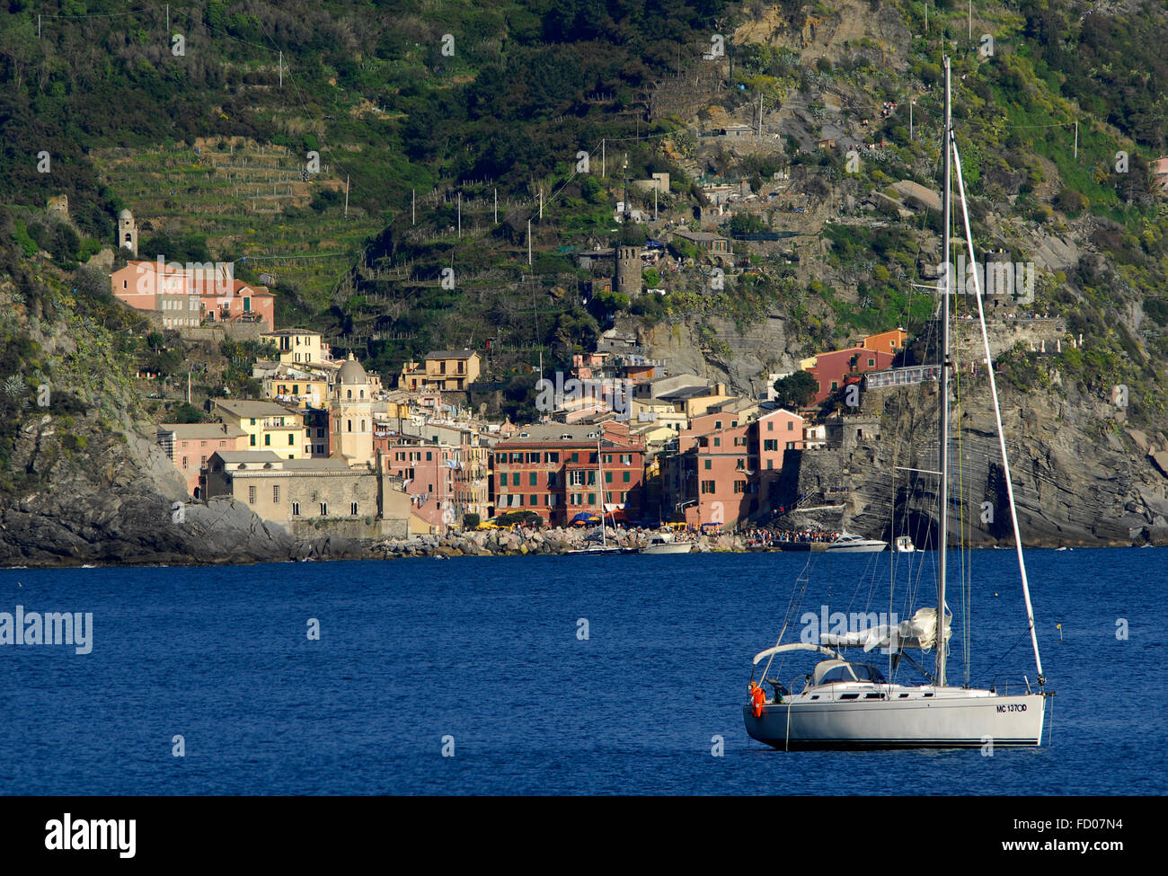
M 1037 746 L 1047 697 L 1042 694 L 1016 696 L 941 688 L 933 696 L 927 689 L 881 686 L 888 700 L 860 698 L 849 702 L 806 695 L 790 702 L 763 707 L 755 717 L 744 707 L 746 732 L 776 749 L 920 749 Z M 878 691 L 881 688 L 868 688 Z M 911 690 L 906 698 L 898 690 Z M 827 696 L 832 696 L 828 694 Z

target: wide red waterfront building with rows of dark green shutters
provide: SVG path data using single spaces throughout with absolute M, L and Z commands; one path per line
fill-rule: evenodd
M 534 510 L 563 526 L 603 503 L 618 521 L 639 520 L 644 475 L 645 439 L 627 423 L 522 426 L 494 447 L 495 510 Z

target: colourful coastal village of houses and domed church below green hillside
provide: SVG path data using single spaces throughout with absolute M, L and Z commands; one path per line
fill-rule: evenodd
M 667 242 L 583 253 L 599 274 L 586 293 L 652 294 L 642 288 L 647 267 L 687 266 L 672 255 L 676 241 L 731 267 L 726 237 L 661 236 Z M 186 501 L 230 496 L 294 535 L 406 538 L 602 519 L 695 536 L 757 533 L 805 498 L 783 478 L 794 454 L 878 438 L 878 419 L 854 401 L 858 390 L 937 376 L 936 367 L 905 364 L 910 338 L 892 326 L 800 361 L 808 391 L 784 406 L 774 384 L 790 374 L 766 375 L 765 395 L 735 394 L 647 357 L 635 336 L 613 327 L 593 352 L 573 356 L 569 373 L 541 375 L 538 422 L 491 422 L 470 404 L 485 376 L 480 350 L 431 350 L 383 377 L 352 353 L 334 356 L 318 331 L 277 327 L 272 292 L 235 279 L 230 264 L 137 259 L 128 210 L 119 244 L 128 260 L 111 273 L 112 292 L 158 328 L 193 340 L 248 338 L 273 350 L 252 364 L 260 399 L 209 398 L 209 422 L 160 422 L 157 440 L 186 481 Z

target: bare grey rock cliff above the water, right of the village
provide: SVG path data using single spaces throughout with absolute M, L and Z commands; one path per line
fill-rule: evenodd
M 954 416 L 950 450 L 950 543 L 957 542 L 960 522 L 974 545 L 1013 544 L 988 385 L 965 388 L 973 391 Z M 864 401 L 867 413 L 882 416 L 878 442 L 842 452 L 805 451 L 792 460 L 792 471 L 784 465 L 787 501 L 807 509 L 788 515 L 791 523 L 882 538 L 909 534 L 918 545 L 937 544 L 938 479 L 896 471 L 936 471 L 936 395 L 910 399 L 899 392 L 870 392 Z M 1168 478 L 1136 439 L 1125 443 L 1105 427 L 1115 422 L 1114 408 L 1073 391 L 1065 399 L 1003 392 L 1002 422 L 1023 544 L 1168 542 Z

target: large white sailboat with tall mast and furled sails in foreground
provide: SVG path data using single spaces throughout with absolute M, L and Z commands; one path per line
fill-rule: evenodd
M 973 239 L 961 176 L 961 159 L 957 151 L 951 118 L 950 60 L 945 58 L 945 127 L 944 127 L 944 241 L 941 250 L 946 263 L 950 260 L 951 227 L 951 173 L 957 171 L 957 182 L 961 192 L 961 210 L 965 220 L 965 243 L 971 263 Z M 994 417 L 1002 456 L 1002 468 L 1010 517 L 1014 523 L 1014 544 L 1017 551 L 1022 595 L 1026 603 L 1027 623 L 1034 647 L 1037 672 L 1037 690 L 1026 680 L 1026 693 L 1008 694 L 996 688 L 976 689 L 951 686 L 946 679 L 946 658 L 952 618 L 945 602 L 946 584 L 946 534 L 948 530 L 948 375 L 950 357 L 948 318 L 952 267 L 946 264 L 940 305 L 941 341 L 939 397 L 939 447 L 938 468 L 940 477 L 939 533 L 938 538 L 938 586 L 937 606 L 924 607 L 909 620 L 899 624 L 885 623 L 856 632 L 821 632 L 820 642 L 779 644 L 755 655 L 750 680 L 750 697 L 743 707 L 746 732 L 755 739 L 780 750 L 798 749 L 896 749 L 896 748 L 981 748 L 1037 746 L 1042 744 L 1043 718 L 1047 697 L 1047 679 L 1042 672 L 1038 639 L 1035 633 L 1034 609 L 1030 604 L 1030 588 L 1027 580 L 1026 561 L 1022 555 L 1022 538 L 1017 513 L 1014 507 L 1014 488 L 1010 481 L 1006 439 L 1002 433 L 1001 409 L 997 404 L 997 387 L 993 368 L 988 369 Z M 978 315 L 985 343 L 986 362 L 990 362 L 989 341 L 986 333 L 985 312 L 981 304 L 981 287 L 975 278 Z M 880 647 L 890 654 L 891 665 L 902 659 L 920 669 L 924 683 L 890 683 L 871 662 L 853 661 L 844 658 L 848 647 L 862 647 L 864 653 Z M 929 673 L 909 652 L 936 652 L 936 668 Z M 813 672 L 804 676 L 799 691 L 788 690 L 780 680 L 769 679 L 767 672 L 776 656 L 797 651 L 819 654 L 821 659 Z M 760 681 L 770 683 L 773 697 L 755 682 L 755 672 L 766 661 Z M 794 687 L 794 684 L 792 684 Z

